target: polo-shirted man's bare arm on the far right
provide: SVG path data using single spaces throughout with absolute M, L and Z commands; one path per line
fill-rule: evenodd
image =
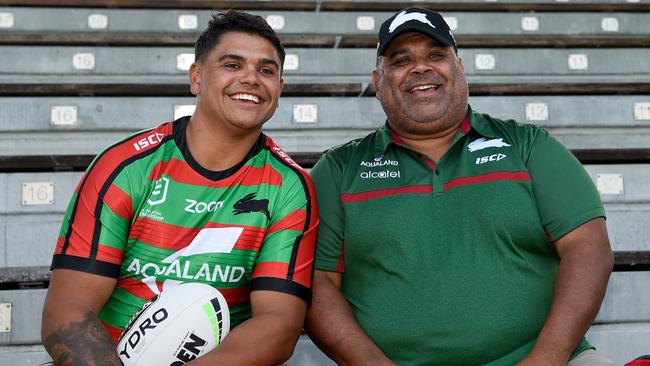
M 614 257 L 603 218 L 577 227 L 555 247 L 560 266 L 551 309 L 535 347 L 519 366 L 566 365 L 605 296 Z

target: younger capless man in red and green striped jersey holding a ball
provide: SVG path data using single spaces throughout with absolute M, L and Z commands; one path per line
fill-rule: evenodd
M 189 70 L 196 111 L 99 154 L 70 202 L 52 261 L 43 343 L 57 365 L 120 365 L 115 341 L 163 286 L 219 289 L 231 328 L 192 365 L 288 359 L 310 300 L 312 183 L 261 133 L 284 48 L 263 18 L 213 16 Z

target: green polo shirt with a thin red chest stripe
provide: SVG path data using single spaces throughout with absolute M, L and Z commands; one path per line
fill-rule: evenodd
M 605 216 L 546 130 L 471 109 L 437 163 L 386 125 L 325 152 L 311 175 L 316 268 L 342 272 L 357 321 L 400 365 L 514 365 L 549 311 L 552 242 Z

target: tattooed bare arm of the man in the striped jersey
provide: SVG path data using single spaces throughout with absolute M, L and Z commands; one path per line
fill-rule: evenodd
M 97 317 L 116 282 L 74 270 L 52 271 L 41 340 L 56 365 L 121 365 L 115 343 Z

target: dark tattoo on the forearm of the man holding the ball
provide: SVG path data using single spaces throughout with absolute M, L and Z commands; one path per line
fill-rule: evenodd
M 115 343 L 92 312 L 65 328 L 52 332 L 44 342 L 57 366 L 121 366 Z

